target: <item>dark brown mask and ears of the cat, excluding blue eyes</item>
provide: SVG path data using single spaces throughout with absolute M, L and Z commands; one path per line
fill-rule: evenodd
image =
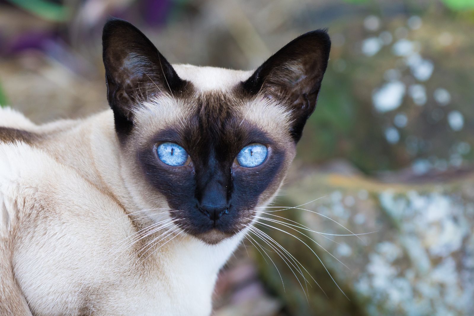
M 170 216 L 179 219 L 183 230 L 209 243 L 245 228 L 255 214 L 252 210 L 279 188 L 285 160 L 293 157 L 287 150 L 294 150 L 315 109 L 330 49 L 326 31 L 296 38 L 226 93 L 197 93 L 128 22 L 110 20 L 102 39 L 108 100 L 122 150 L 137 153 L 144 181 L 166 198 L 170 208 L 179 210 Z M 186 124 L 156 131 L 137 147 L 134 109 L 159 95 L 190 106 Z M 262 97 L 276 100 L 290 113 L 288 129 L 282 133 L 291 146 L 233 110 L 236 104 Z M 161 161 L 156 150 L 164 142 L 179 145 L 189 162 L 170 166 Z M 255 167 L 236 163 L 239 152 L 255 143 L 268 149 L 264 162 Z M 219 237 L 206 239 L 210 231 Z

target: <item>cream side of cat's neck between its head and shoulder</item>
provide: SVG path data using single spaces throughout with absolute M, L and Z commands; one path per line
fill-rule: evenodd
M 98 190 L 125 209 L 134 209 L 120 175 L 119 143 L 111 110 L 83 120 L 62 120 L 38 126 L 40 147 L 72 167 Z

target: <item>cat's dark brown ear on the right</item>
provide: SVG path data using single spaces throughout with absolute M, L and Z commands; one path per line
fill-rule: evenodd
M 264 94 L 286 102 L 291 110 L 290 133 L 300 140 L 313 113 L 328 65 L 331 41 L 326 30 L 308 32 L 286 44 L 243 83 L 251 94 Z

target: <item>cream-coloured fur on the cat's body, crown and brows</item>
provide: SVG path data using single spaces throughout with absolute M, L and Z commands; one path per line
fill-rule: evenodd
M 202 91 L 225 91 L 250 74 L 175 69 Z M 181 120 L 182 111 L 166 105 L 154 123 Z M 268 100 L 260 111 L 244 107 L 250 120 L 275 133 L 287 124 Z M 127 214 L 146 209 L 148 202 L 121 155 L 111 110 L 38 126 L 5 108 L 0 126 L 42 135 L 30 145 L 0 141 L 2 316 L 210 315 L 219 269 L 245 231 L 215 246 L 174 233 L 147 258 L 124 247 L 137 231 Z

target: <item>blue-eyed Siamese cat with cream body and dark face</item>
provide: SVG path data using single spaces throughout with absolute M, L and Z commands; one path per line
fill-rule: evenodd
M 0 315 L 210 315 L 295 156 L 329 36 L 255 71 L 171 65 L 120 19 L 102 44 L 110 110 L 36 125 L 0 109 Z

